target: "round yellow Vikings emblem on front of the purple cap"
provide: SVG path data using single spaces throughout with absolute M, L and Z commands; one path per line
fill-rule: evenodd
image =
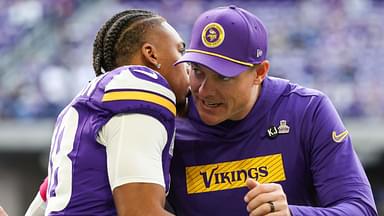
M 215 48 L 223 43 L 225 32 L 223 27 L 218 23 L 209 23 L 201 33 L 201 40 L 206 47 Z

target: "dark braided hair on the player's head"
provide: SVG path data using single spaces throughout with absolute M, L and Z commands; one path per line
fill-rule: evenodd
M 145 42 L 149 28 L 165 21 L 146 10 L 126 10 L 110 18 L 99 30 L 93 44 L 93 69 L 96 76 L 127 63 Z M 119 62 L 119 63 L 118 63 Z

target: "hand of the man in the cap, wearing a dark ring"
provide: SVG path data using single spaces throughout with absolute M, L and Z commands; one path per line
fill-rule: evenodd
M 246 182 L 249 191 L 244 197 L 249 215 L 290 216 L 286 195 L 281 185 L 260 184 L 253 179 Z

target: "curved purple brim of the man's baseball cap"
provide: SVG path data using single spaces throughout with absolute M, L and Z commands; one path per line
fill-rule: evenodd
M 185 53 L 175 63 L 175 65 L 183 62 L 193 62 L 193 63 L 201 64 L 225 77 L 235 77 L 240 73 L 249 69 L 248 66 L 237 64 L 217 56 L 207 55 L 203 53 L 196 53 L 196 52 Z

